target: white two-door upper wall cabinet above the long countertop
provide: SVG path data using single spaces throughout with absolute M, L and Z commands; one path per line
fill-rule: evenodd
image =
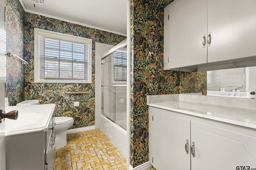
M 255 0 L 175 0 L 164 9 L 164 69 L 256 56 Z

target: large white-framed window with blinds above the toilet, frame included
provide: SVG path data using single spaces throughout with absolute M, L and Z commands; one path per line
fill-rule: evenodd
M 34 82 L 91 83 L 91 39 L 36 28 L 34 35 Z

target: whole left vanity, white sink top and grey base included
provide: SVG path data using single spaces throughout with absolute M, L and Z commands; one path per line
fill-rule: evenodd
M 55 104 L 10 106 L 18 119 L 6 121 L 6 170 L 53 170 Z

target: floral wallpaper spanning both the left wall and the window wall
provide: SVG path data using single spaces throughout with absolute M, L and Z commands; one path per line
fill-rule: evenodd
M 10 105 L 23 100 L 37 99 L 40 104 L 56 104 L 56 116 L 74 118 L 70 129 L 94 125 L 95 120 L 95 43 L 117 45 L 125 36 L 84 27 L 61 20 L 24 12 L 18 0 L 7 0 L 8 52 L 24 56 L 29 64 L 16 59 L 7 61 L 6 96 Z M 32 83 L 34 81 L 34 28 L 66 33 L 92 39 L 91 84 Z M 89 94 L 64 94 L 65 91 L 89 91 Z M 80 106 L 72 106 L 73 98 L 80 99 Z

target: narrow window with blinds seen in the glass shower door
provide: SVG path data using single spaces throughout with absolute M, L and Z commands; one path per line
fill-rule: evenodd
M 127 77 L 127 52 L 114 51 L 114 80 L 126 82 Z

